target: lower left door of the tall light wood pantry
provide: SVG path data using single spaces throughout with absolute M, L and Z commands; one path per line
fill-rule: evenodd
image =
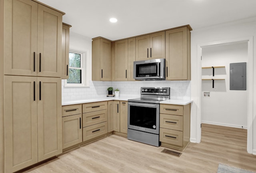
M 38 162 L 36 77 L 4 76 L 4 168 Z

